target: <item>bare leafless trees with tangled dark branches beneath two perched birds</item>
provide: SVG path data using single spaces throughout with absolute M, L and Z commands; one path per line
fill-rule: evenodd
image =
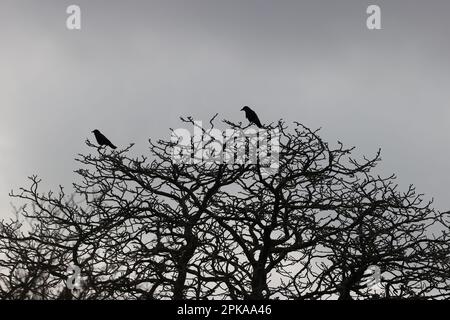
M 379 152 L 358 161 L 299 123 L 267 129 L 280 138 L 270 175 L 259 161 L 180 162 L 173 140 L 149 141 L 148 157 L 87 141 L 75 198 L 40 193 L 35 176 L 11 194 L 31 205 L 20 210 L 34 227 L 0 225 L 0 297 L 366 299 L 374 265 L 378 297 L 450 297 L 448 213 L 372 174 Z M 83 279 L 73 292 L 70 265 Z

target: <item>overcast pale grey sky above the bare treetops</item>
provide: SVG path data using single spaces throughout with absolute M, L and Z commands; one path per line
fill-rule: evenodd
M 181 115 L 241 121 L 243 105 L 381 147 L 382 173 L 450 209 L 449 16 L 448 0 L 0 0 L 0 217 L 31 174 L 70 193 L 95 128 L 141 154 Z

